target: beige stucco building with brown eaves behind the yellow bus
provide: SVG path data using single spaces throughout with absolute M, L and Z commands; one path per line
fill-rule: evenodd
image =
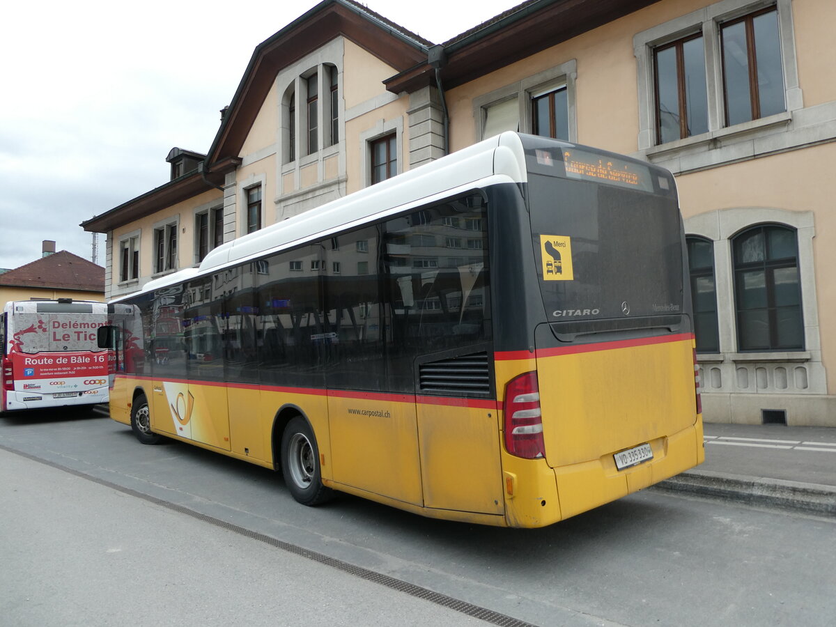
M 679 186 L 706 421 L 836 426 L 834 22 L 830 0 L 534 0 L 434 45 L 324 0 L 255 48 L 206 155 L 171 150 L 171 181 L 83 226 L 114 298 L 502 130 L 638 156 Z

